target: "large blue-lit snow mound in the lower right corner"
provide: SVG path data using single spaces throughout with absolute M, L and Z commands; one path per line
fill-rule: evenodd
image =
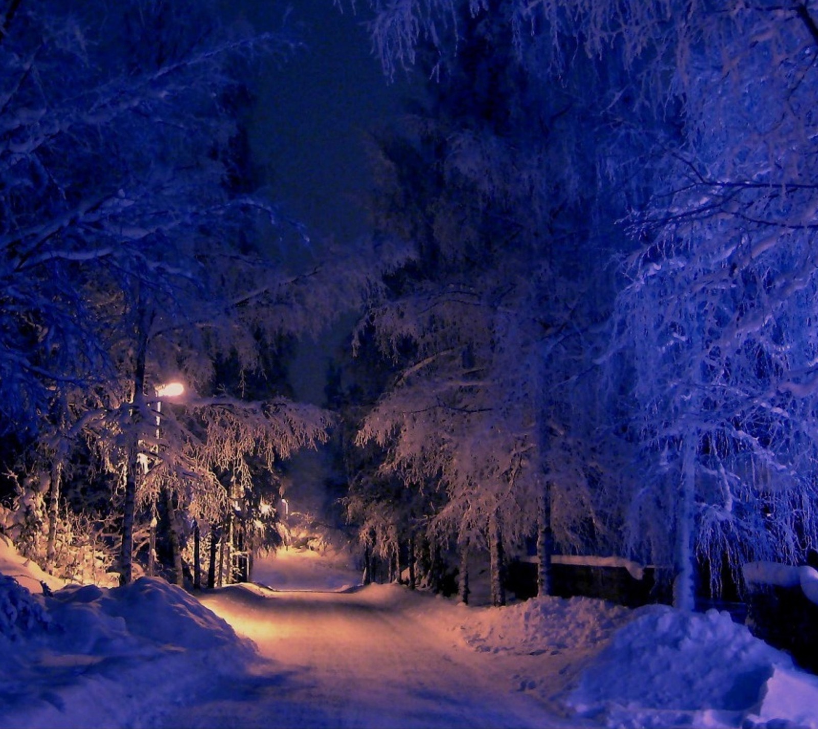
M 608 727 L 818 727 L 818 682 L 726 612 L 636 612 L 570 695 L 583 717 Z M 806 707 L 797 712 L 793 686 Z

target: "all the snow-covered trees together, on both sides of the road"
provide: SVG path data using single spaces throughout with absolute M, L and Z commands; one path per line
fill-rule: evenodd
M 366 560 L 464 597 L 481 556 L 504 601 L 535 542 L 544 592 L 555 551 L 622 556 L 683 608 L 699 572 L 816 547 L 813 3 L 336 2 L 427 79 L 372 130 L 371 238 L 337 248 L 302 245 L 246 143 L 254 63 L 295 38 L 64 4 L 11 3 L 0 42 L 29 551 L 114 534 L 127 582 L 135 534 L 178 579 L 185 542 L 275 545 L 281 459 L 330 437 Z M 349 309 L 326 407 L 293 403 L 288 348 Z

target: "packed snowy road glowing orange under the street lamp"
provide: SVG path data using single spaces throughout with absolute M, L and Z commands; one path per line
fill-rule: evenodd
M 429 605 L 457 608 L 428 595 L 236 586 L 203 602 L 269 660 L 254 681 L 219 686 L 164 727 L 577 726 L 515 691 L 519 656 L 481 654 L 430 627 Z

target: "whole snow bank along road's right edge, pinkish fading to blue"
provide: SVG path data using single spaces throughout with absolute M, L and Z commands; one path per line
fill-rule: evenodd
M 629 610 L 587 597 L 537 597 L 470 610 L 459 631 L 474 650 L 543 659 L 563 654 L 584 662 L 561 695 L 583 723 L 818 729 L 818 677 L 794 668 L 789 655 L 726 612 L 686 613 L 667 605 Z M 554 683 L 535 673 L 526 678 L 528 688 Z

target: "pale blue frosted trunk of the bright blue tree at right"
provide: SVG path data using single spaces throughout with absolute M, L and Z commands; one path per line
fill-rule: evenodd
M 698 439 L 693 434 L 688 434 L 682 449 L 681 493 L 676 512 L 676 579 L 673 583 L 673 606 L 679 610 L 692 611 L 696 603 L 693 531 Z

